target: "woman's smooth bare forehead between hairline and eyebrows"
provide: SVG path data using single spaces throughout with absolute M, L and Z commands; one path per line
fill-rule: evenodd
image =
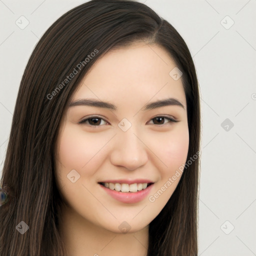
M 95 62 L 73 100 L 96 97 L 130 104 L 171 96 L 185 105 L 181 78 L 174 80 L 169 74 L 174 67 L 169 53 L 156 44 L 114 49 Z

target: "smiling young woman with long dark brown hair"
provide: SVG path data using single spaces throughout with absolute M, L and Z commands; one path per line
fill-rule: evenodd
M 166 20 L 129 0 L 66 12 L 21 80 L 0 255 L 197 255 L 199 135 L 193 61 Z

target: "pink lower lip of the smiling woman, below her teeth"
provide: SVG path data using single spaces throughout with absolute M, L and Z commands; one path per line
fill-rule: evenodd
M 143 200 L 148 193 L 150 192 L 152 186 L 154 184 L 151 184 L 150 186 L 146 187 L 145 189 L 142 189 L 137 192 L 120 192 L 116 190 L 111 190 L 110 188 L 107 188 L 101 184 L 99 184 L 109 195 L 111 195 L 114 199 L 124 202 L 124 203 L 135 203 Z

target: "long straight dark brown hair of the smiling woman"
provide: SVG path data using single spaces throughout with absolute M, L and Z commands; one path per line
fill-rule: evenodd
M 199 151 L 196 72 L 175 28 L 145 4 L 132 0 L 91 0 L 67 11 L 40 38 L 21 79 L 1 177 L 8 194 L 0 207 L 1 256 L 65 255 L 58 231 L 61 197 L 54 176 L 61 119 L 93 63 L 110 49 L 137 41 L 164 47 L 182 71 L 189 129 L 187 160 Z M 91 54 L 95 49 L 97 54 Z M 86 61 L 88 55 L 93 57 Z M 74 70 L 73 78 L 65 80 Z M 198 170 L 199 157 L 184 169 L 170 199 L 149 224 L 147 256 L 197 255 Z M 15 229 L 20 221 L 29 226 L 24 234 Z

